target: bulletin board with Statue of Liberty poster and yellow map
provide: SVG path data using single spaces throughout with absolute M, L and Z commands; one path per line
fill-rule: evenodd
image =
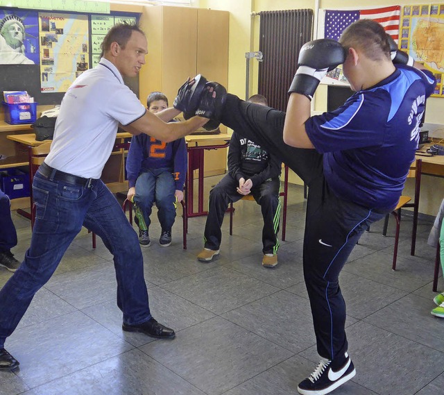
M 0 52 L 0 92 L 27 90 L 39 104 L 60 104 L 68 87 L 100 60 L 106 33 L 114 24 L 136 24 L 138 14 L 83 14 L 0 8 L 0 34 L 23 54 L 26 64 L 4 64 Z M 3 28 L 3 30 L 2 30 Z M 139 94 L 139 78 L 124 78 Z

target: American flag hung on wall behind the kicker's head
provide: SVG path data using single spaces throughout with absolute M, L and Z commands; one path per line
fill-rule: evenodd
M 339 40 L 344 29 L 358 19 L 373 19 L 398 42 L 401 6 L 371 10 L 325 10 L 324 37 Z

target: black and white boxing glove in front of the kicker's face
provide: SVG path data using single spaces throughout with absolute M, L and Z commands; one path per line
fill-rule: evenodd
M 330 38 L 313 40 L 302 45 L 298 70 L 290 85 L 289 93 L 305 94 L 310 100 L 321 79 L 345 61 L 342 45 Z

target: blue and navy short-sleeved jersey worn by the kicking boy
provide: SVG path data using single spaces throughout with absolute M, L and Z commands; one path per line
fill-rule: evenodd
M 373 209 L 398 204 L 418 149 L 425 99 L 435 85 L 432 73 L 399 65 L 337 110 L 307 120 L 309 139 L 324 154 L 325 180 L 337 196 Z

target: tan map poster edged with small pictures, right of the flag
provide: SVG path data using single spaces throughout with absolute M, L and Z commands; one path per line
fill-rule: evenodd
M 403 6 L 399 47 L 438 81 L 432 96 L 444 97 L 444 3 Z

